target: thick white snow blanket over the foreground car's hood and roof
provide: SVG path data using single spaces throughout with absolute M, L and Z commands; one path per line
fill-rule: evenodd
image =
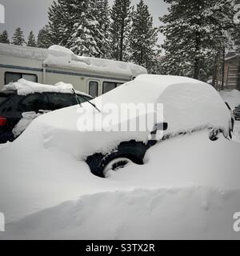
M 230 126 L 230 112 L 214 88 L 204 82 L 191 78 L 140 75 L 132 82 L 128 82 L 94 100 L 100 110 L 95 110 L 88 102 L 79 106 L 57 110 L 37 118 L 26 130 L 44 127 L 43 143 L 46 147 L 54 147 L 73 154 L 82 159 L 96 152 L 108 152 L 118 146 L 119 142 L 136 141 L 147 142 L 150 130 L 146 131 L 111 131 L 119 123 L 138 119 L 142 115 L 154 115 L 157 104 L 163 106 L 163 113 L 159 111 L 158 120 L 168 122 L 167 135 L 202 130 L 204 128 L 222 129 L 226 136 Z M 130 107 L 142 104 L 154 104 L 152 111 L 143 111 L 130 117 L 120 116 L 116 122 L 102 122 L 107 116 L 122 104 L 132 104 Z M 107 104 L 109 105 L 105 108 Z M 113 106 L 113 107 L 111 107 Z M 106 111 L 107 109 L 107 111 Z M 101 131 L 79 131 L 79 120 L 87 122 L 94 117 L 98 120 Z M 159 122 L 159 121 L 158 121 Z M 100 127 L 99 127 L 100 124 Z M 152 123 L 152 128 L 154 128 Z

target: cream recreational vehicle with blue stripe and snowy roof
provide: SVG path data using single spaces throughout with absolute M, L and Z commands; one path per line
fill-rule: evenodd
M 133 63 L 80 57 L 62 46 L 40 49 L 0 43 L 0 90 L 24 78 L 50 85 L 70 83 L 95 98 L 146 73 Z

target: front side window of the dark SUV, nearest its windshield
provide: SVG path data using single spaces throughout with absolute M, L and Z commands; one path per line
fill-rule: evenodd
M 44 106 L 46 110 L 59 110 L 67 106 L 76 105 L 76 99 L 73 94 L 46 94 L 48 103 Z

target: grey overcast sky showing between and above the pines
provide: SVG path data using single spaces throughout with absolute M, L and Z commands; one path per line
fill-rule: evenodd
M 34 30 L 38 34 L 39 29 L 47 23 L 47 10 L 53 0 L 0 0 L 0 4 L 6 9 L 6 24 L 0 24 L 0 32 L 7 30 L 10 37 L 14 30 L 20 26 L 25 36 Z M 110 4 L 114 0 L 110 0 Z M 139 0 L 132 0 L 133 4 Z M 159 26 L 158 17 L 167 13 L 167 6 L 163 0 L 145 0 L 154 16 L 154 25 Z M 162 42 L 162 35 L 159 35 Z

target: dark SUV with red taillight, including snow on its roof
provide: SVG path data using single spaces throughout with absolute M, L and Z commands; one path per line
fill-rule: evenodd
M 14 141 L 41 114 L 92 99 L 72 89 L 62 82 L 48 86 L 24 79 L 6 85 L 0 91 L 0 143 Z

